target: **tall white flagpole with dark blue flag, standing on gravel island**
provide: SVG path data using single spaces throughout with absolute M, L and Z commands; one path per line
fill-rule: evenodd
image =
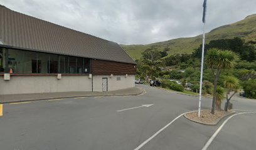
M 200 91 L 198 101 L 198 117 L 201 116 L 201 99 L 202 99 L 202 87 L 203 87 L 203 59 L 205 57 L 205 16 L 206 16 L 206 2 L 203 1 L 203 45 L 202 45 L 202 57 L 201 57 L 201 74 L 200 74 Z

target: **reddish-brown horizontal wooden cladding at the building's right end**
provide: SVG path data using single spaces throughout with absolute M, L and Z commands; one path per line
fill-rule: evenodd
M 113 61 L 103 61 L 92 59 L 92 74 L 93 75 L 135 75 L 136 64 L 117 63 Z

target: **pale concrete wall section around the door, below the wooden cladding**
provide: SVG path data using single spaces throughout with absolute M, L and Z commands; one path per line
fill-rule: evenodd
M 120 81 L 117 81 L 117 77 L 120 77 Z M 107 78 L 108 91 L 114 91 L 118 89 L 132 88 L 135 86 L 135 76 L 93 76 L 93 91 L 102 92 L 102 78 Z

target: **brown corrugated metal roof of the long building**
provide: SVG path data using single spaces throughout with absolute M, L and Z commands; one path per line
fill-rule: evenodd
M 119 44 L 43 21 L 0 5 L 0 41 L 46 53 L 136 64 Z

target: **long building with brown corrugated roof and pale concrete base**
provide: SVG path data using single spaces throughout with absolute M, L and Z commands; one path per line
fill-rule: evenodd
M 119 44 L 0 5 L 0 94 L 113 91 L 135 73 Z

